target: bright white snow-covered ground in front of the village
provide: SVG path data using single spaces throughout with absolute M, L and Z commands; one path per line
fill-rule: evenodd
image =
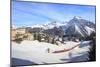
M 54 45 L 45 42 L 35 41 L 22 41 L 21 44 L 12 42 L 12 58 L 27 60 L 33 62 L 33 64 L 49 64 L 49 63 L 65 63 L 65 62 L 76 62 L 76 61 L 87 61 L 89 51 L 89 45 L 78 46 L 70 51 L 62 53 L 52 53 L 53 51 L 69 49 L 77 44 L 88 44 L 88 41 L 80 42 L 66 42 L 65 44 Z M 47 49 L 50 49 L 48 53 Z M 15 60 L 15 59 L 12 59 Z M 15 65 L 19 65 L 13 61 Z M 25 63 L 20 61 L 20 65 Z

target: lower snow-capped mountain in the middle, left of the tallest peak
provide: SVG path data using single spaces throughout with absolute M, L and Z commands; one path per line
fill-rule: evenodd
M 51 36 L 62 36 L 64 32 L 62 27 L 66 26 L 66 24 L 64 22 L 53 21 L 47 24 L 48 29 L 45 29 L 43 32 Z

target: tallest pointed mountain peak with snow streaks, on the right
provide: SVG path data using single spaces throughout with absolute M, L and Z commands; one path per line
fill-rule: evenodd
M 66 35 L 73 35 L 79 37 L 89 36 L 95 32 L 95 24 L 81 17 L 74 17 L 68 22 Z

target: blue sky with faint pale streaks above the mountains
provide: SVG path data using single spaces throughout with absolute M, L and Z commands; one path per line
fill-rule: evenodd
M 53 20 L 69 21 L 74 16 L 81 16 L 86 20 L 95 22 L 95 7 L 18 1 L 12 2 L 12 24 L 16 26 L 45 24 Z

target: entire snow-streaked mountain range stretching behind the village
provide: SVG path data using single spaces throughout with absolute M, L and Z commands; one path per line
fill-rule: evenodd
M 73 17 L 69 22 L 52 21 L 43 25 L 34 25 L 30 32 L 43 32 L 52 36 L 85 37 L 95 32 L 95 24 L 82 17 Z

